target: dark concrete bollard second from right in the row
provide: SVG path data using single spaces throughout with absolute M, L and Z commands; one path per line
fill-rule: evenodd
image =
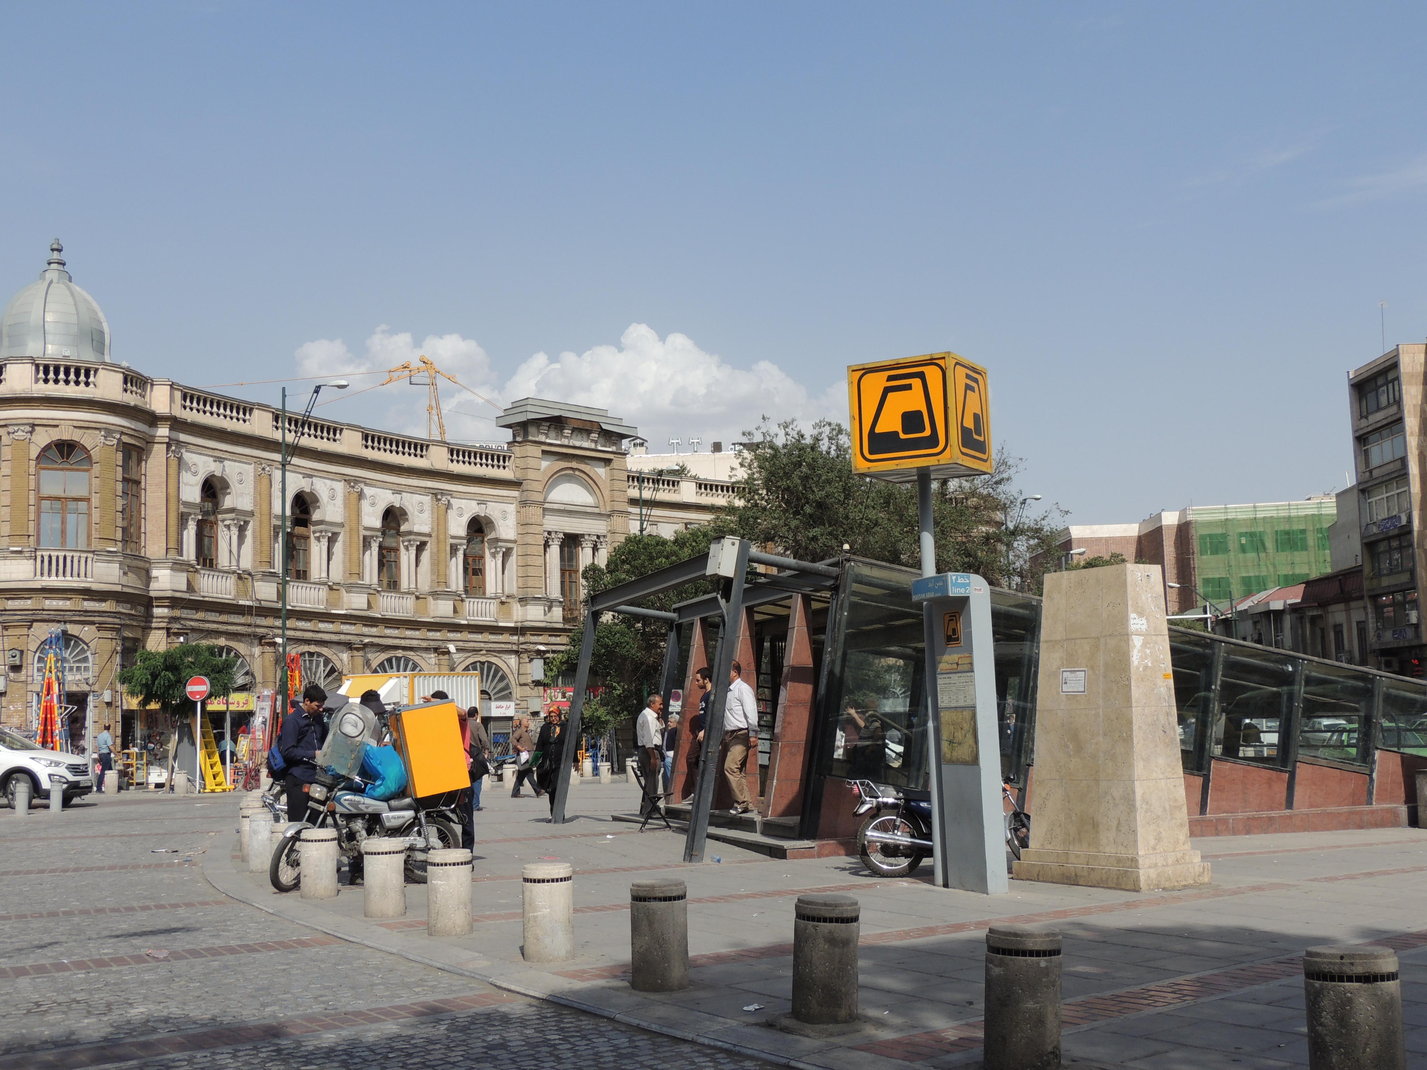
M 986 930 L 986 1070 L 1060 1066 L 1060 933 Z

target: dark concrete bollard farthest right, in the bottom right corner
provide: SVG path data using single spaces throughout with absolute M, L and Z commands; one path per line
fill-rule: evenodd
M 1391 949 L 1310 947 L 1303 996 L 1309 1070 L 1406 1070 L 1403 984 Z

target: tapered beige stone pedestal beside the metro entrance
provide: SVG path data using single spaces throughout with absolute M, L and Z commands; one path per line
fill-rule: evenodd
M 1209 883 L 1189 846 L 1157 565 L 1046 576 L 1030 805 L 1020 880 L 1126 892 Z

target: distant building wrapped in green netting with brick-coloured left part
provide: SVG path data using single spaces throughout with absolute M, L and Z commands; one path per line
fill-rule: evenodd
M 1072 525 L 1060 532 L 1057 549 L 1063 565 L 1112 554 L 1159 565 L 1172 615 L 1193 612 L 1206 601 L 1216 612 L 1227 612 L 1234 599 L 1329 572 L 1329 528 L 1336 516 L 1331 495 L 1301 502 L 1193 505 L 1139 524 Z

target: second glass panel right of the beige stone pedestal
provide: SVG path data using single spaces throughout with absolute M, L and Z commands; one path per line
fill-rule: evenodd
M 1293 713 L 1300 662 L 1273 651 L 1234 646 L 1224 651 L 1213 753 L 1241 762 L 1281 766 L 1287 739 L 1279 729 Z M 1176 685 L 1179 678 L 1176 673 Z M 1177 693 L 1177 688 L 1176 688 Z

